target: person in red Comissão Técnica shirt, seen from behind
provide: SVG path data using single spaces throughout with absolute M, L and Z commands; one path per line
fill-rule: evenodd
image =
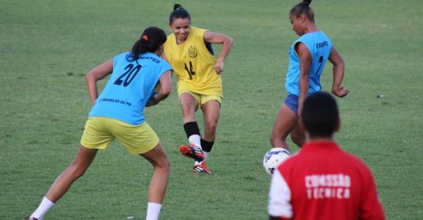
M 372 172 L 333 141 L 341 120 L 331 94 L 305 99 L 300 126 L 305 144 L 271 178 L 269 219 L 385 219 Z

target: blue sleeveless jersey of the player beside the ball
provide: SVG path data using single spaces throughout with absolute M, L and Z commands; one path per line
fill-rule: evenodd
M 332 42 L 324 32 L 310 32 L 298 38 L 289 50 L 289 66 L 286 75 L 286 90 L 290 94 L 300 95 L 300 58 L 295 52 L 295 44 L 302 42 L 312 55 L 312 63 L 309 69 L 309 90 L 307 94 L 321 90 L 320 75 L 323 72 L 326 61 L 331 54 Z

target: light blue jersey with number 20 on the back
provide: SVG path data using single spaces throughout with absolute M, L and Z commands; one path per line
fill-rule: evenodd
M 144 108 L 159 78 L 172 70 L 164 59 L 145 53 L 133 58 L 131 52 L 113 59 L 113 73 L 92 106 L 90 117 L 114 118 L 133 125 L 144 122 Z

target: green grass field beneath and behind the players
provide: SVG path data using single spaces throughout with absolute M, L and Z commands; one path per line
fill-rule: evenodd
M 172 1 L 0 0 L 0 219 L 23 219 L 75 157 L 90 99 L 85 73 L 168 28 Z M 267 219 L 262 157 L 297 38 L 298 1 L 180 1 L 192 25 L 230 35 L 212 176 L 193 175 L 176 90 L 146 109 L 171 162 L 161 219 Z M 423 1 L 313 1 L 317 26 L 346 63 L 336 140 L 372 169 L 387 219 L 423 219 Z M 219 47 L 215 47 L 219 51 Z M 102 82 L 104 85 L 105 80 Z M 331 65 L 322 76 L 331 87 Z M 384 94 L 383 98 L 376 98 Z M 202 114 L 197 115 L 202 126 Z M 289 143 L 291 149 L 298 150 Z M 152 168 L 117 142 L 46 219 L 145 219 Z

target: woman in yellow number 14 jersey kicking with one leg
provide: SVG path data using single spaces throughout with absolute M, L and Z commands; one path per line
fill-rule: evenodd
M 191 26 L 191 18 L 179 4 L 175 4 L 169 18 L 172 34 L 164 44 L 166 59 L 178 78 L 178 96 L 183 113 L 183 128 L 190 142 L 181 145 L 185 157 L 195 159 L 192 172 L 212 173 L 205 161 L 212 150 L 223 97 L 221 72 L 223 60 L 231 50 L 233 39 L 209 30 Z M 212 44 L 222 44 L 215 59 Z M 202 109 L 204 133 L 195 121 L 195 112 Z

